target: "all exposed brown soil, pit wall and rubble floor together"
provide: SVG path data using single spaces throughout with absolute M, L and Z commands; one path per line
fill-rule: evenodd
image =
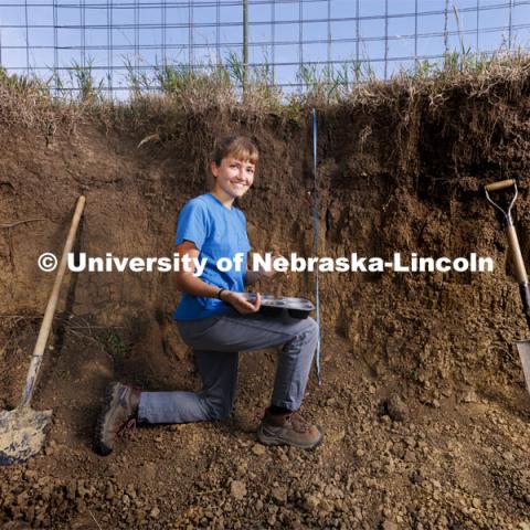
M 140 428 L 106 458 L 91 445 L 108 381 L 200 381 L 171 322 L 171 274 L 68 274 L 33 398 L 54 411 L 49 443 L 0 468 L 2 528 L 530 529 L 530 398 L 512 346 L 530 332 L 481 188 L 518 180 L 530 263 L 528 68 L 365 91 L 317 109 L 320 255 L 477 253 L 495 271 L 321 273 L 324 381 L 311 375 L 304 403 L 326 433 L 314 452 L 255 441 L 267 350 L 241 354 L 229 421 Z M 1 409 L 18 404 L 53 284 L 36 259 L 61 253 L 81 193 L 78 251 L 170 255 L 180 208 L 208 190 L 213 139 L 243 132 L 261 150 L 240 204 L 253 250 L 314 254 L 310 109 L 177 116 L 59 121 L 50 135 L 0 123 Z M 263 290 L 314 300 L 314 276 Z

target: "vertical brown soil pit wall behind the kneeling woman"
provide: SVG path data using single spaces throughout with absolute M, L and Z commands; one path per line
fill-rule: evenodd
M 433 103 L 432 94 L 391 85 L 378 88 L 371 106 L 318 109 L 320 255 L 477 253 L 496 264 L 491 274 L 322 273 L 324 368 L 341 336 L 352 358 L 421 389 L 523 391 L 510 344 L 527 330 L 517 286 L 507 277 L 511 268 L 500 218 L 480 186 L 518 179 L 517 224 L 528 263 L 529 87 L 528 78 L 501 80 L 483 93 L 464 84 L 442 91 Z M 105 131 L 86 124 L 75 134 L 59 129 L 46 140 L 6 128 L 0 136 L 0 314 L 43 312 L 53 274 L 40 272 L 36 258 L 43 252 L 60 254 L 80 193 L 87 198 L 81 251 L 170 255 L 180 208 L 208 190 L 213 139 L 231 131 L 252 136 L 261 150 L 255 186 L 241 203 L 253 250 L 311 256 L 307 121 L 211 109 L 182 116 L 173 124 L 181 131 L 173 140 L 140 148 L 152 130 Z M 307 273 L 264 288 L 309 298 L 312 289 Z M 120 329 L 137 353 L 118 372 L 147 368 L 156 380 L 187 357 L 170 320 L 178 296 L 171 274 L 81 273 L 68 276 L 60 310 L 94 328 Z M 12 354 L 4 352 L 9 364 Z

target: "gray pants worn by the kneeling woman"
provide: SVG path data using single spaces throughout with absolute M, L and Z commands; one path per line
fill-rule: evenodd
M 188 423 L 227 417 L 234 404 L 239 352 L 280 344 L 272 403 L 292 411 L 300 407 L 318 337 L 312 318 L 235 315 L 178 321 L 177 326 L 182 340 L 193 349 L 203 390 L 142 392 L 140 422 Z

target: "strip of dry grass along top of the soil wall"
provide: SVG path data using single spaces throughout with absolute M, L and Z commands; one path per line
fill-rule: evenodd
M 458 20 L 457 13 L 455 17 Z M 0 126 L 36 127 L 50 134 L 61 124 L 75 127 L 84 119 L 97 118 L 107 127 L 123 125 L 127 130 L 157 132 L 163 140 L 174 134 L 172 129 L 183 115 L 212 108 L 226 113 L 239 109 L 256 116 L 275 114 L 299 121 L 311 106 L 377 104 L 402 91 L 410 97 L 428 94 L 435 105 L 441 94 L 456 84 L 467 83 L 475 86 L 471 92 L 483 94 L 499 81 L 520 85 L 528 77 L 530 57 L 523 51 L 477 56 L 460 43 L 459 51 L 447 53 L 437 62 L 423 61 L 385 83 L 375 78 L 369 61 L 343 62 L 336 67 L 303 64 L 297 81 L 305 89 L 296 94 L 275 84 L 274 68 L 267 61 L 250 68 L 243 92 L 244 68 L 236 54 L 229 54 L 223 64 L 198 64 L 193 68 L 165 63 L 142 70 L 130 62 L 126 62 L 126 68 L 130 96 L 125 102 L 108 97 L 105 83 L 96 81 L 89 60 L 84 66 L 73 63 L 54 94 L 53 73 L 41 80 L 9 75 L 0 68 Z M 163 124 L 153 127 L 157 116 L 159 120 L 163 116 Z

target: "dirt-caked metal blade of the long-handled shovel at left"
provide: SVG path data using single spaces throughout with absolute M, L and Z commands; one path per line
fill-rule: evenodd
M 44 445 L 52 411 L 0 411 L 0 466 L 25 462 Z

